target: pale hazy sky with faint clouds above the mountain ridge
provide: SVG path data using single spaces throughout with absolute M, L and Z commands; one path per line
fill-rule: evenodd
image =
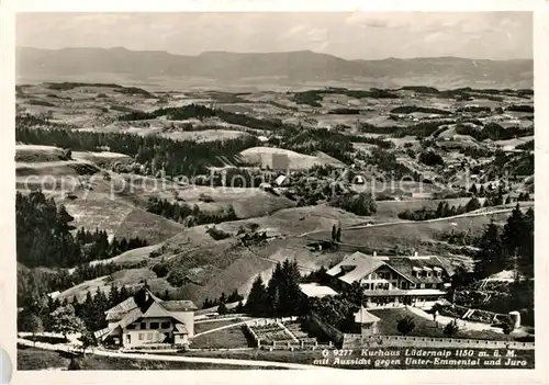
M 311 49 L 347 59 L 533 58 L 529 12 L 21 13 L 18 46 L 204 50 Z

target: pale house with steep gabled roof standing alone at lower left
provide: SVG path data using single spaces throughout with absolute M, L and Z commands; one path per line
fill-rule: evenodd
M 143 286 L 105 312 L 109 325 L 94 337 L 101 343 L 124 348 L 188 346 L 194 336 L 195 309 L 191 301 L 163 301 Z

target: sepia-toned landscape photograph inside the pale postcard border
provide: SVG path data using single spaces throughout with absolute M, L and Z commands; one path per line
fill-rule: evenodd
M 542 365 L 534 12 L 14 18 L 14 370 Z

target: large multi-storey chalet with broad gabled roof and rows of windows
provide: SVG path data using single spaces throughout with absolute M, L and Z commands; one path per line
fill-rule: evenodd
M 453 271 L 450 263 L 436 256 L 378 257 L 357 251 L 326 274 L 330 285 L 340 291 L 359 282 L 367 307 L 430 307 L 445 299 Z

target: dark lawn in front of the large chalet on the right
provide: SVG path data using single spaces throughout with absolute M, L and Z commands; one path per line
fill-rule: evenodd
M 371 309 L 371 314 L 381 318 L 378 324 L 381 335 L 385 336 L 400 336 L 396 329 L 396 324 L 404 316 L 411 316 L 415 322 L 415 329 L 412 330 L 410 336 L 434 337 L 434 338 L 448 338 L 442 332 L 444 327 L 436 327 L 435 322 L 430 319 L 423 318 L 405 308 L 394 309 Z M 459 330 L 453 338 L 471 338 L 480 340 L 513 340 L 513 336 L 490 331 L 490 330 Z

